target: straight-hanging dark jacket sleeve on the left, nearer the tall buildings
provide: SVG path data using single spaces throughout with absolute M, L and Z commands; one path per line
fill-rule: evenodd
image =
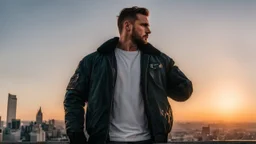
M 88 101 L 90 62 L 80 61 L 66 88 L 64 98 L 65 125 L 70 143 L 86 141 L 84 134 L 84 106 Z

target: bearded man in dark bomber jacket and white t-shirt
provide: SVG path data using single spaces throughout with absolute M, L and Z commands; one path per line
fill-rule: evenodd
M 167 142 L 173 117 L 167 96 L 187 100 L 191 81 L 174 61 L 147 42 L 146 8 L 125 8 L 118 17 L 120 37 L 85 56 L 64 100 L 72 144 L 150 144 Z M 87 102 L 84 136 L 84 106 Z

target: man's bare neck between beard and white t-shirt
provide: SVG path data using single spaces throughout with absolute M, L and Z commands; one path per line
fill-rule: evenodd
M 125 51 L 137 51 L 138 50 L 137 44 L 132 42 L 132 40 L 121 38 L 121 37 L 117 44 L 117 48 L 120 48 Z

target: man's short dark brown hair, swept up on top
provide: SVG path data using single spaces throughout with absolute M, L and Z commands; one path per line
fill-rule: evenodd
M 118 20 L 117 20 L 117 26 L 118 26 L 119 33 L 122 32 L 124 21 L 127 19 L 131 19 L 131 20 L 135 21 L 137 19 L 137 14 L 149 16 L 149 10 L 144 7 L 133 6 L 130 8 L 124 8 L 120 12 L 120 14 L 118 16 Z

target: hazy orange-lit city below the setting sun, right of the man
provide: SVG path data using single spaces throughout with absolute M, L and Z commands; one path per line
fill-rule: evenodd
M 205 126 L 208 125 L 208 126 Z M 175 123 L 168 141 L 256 141 L 256 123 Z

